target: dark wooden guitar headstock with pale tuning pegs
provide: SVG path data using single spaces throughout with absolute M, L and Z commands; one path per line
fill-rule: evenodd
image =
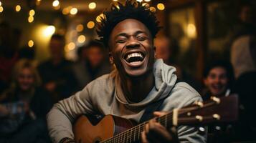
M 238 97 L 237 95 L 221 98 L 212 97 L 211 100 L 204 103 L 195 102 L 189 107 L 179 109 L 176 119 L 177 124 L 209 124 L 237 121 Z

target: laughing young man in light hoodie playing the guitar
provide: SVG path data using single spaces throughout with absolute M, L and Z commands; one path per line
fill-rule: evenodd
M 113 4 L 103 14 L 97 33 L 116 69 L 54 105 L 47 115 L 53 142 L 75 142 L 72 123 L 81 114 L 113 114 L 142 122 L 148 109 L 161 111 L 150 113 L 161 116 L 202 101 L 189 84 L 176 82 L 173 66 L 154 58 L 153 38 L 159 26 L 148 6 L 126 1 Z M 205 136 L 198 127 L 166 129 L 153 119 L 144 126 L 141 142 L 206 142 Z

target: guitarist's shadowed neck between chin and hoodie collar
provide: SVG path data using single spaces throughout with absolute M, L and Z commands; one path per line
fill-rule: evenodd
M 141 102 L 148 96 L 155 84 L 153 70 L 143 77 L 131 78 L 120 76 L 123 94 L 129 102 Z

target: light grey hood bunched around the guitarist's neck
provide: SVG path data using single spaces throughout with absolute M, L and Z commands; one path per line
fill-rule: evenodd
M 162 59 L 157 59 L 153 65 L 155 86 L 151 89 L 148 96 L 138 103 L 128 102 L 121 88 L 120 77 L 117 75 L 115 78 L 115 97 L 118 102 L 125 104 L 128 107 L 144 107 L 152 102 L 158 101 L 159 99 L 163 99 L 170 94 L 171 89 L 176 83 L 177 77 L 176 74 L 174 74 L 175 71 L 176 69 L 174 66 L 164 64 Z

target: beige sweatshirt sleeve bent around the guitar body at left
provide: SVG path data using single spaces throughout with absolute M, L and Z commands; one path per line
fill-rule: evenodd
M 72 123 L 81 114 L 93 113 L 90 99 L 90 85 L 72 97 L 54 104 L 47 114 L 47 126 L 52 142 L 60 142 L 64 137 L 74 139 Z

